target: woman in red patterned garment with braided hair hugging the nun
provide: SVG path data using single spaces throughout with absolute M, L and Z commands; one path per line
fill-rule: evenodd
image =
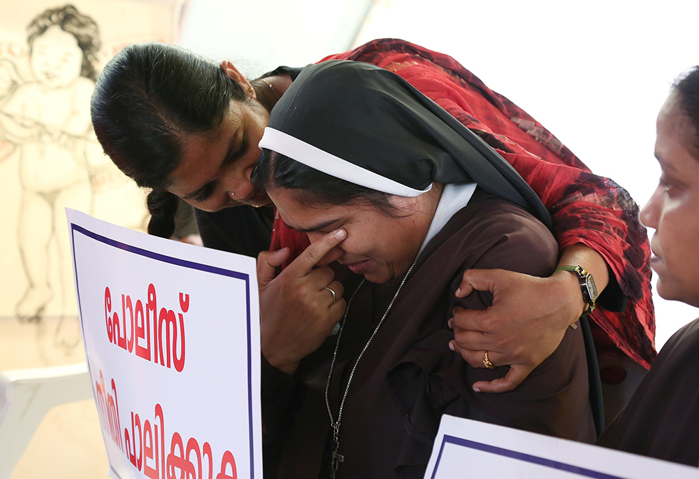
M 484 367 L 486 351 L 493 364 L 511 366 L 504 378 L 474 387 L 483 392 L 516 387 L 558 347 L 568 326 L 590 311 L 598 347 L 649 366 L 655 355 L 649 248 L 637 206 L 623 188 L 589 172 L 541 124 L 447 55 L 384 39 L 329 59 L 394 71 L 480 136 L 549 210 L 561 248 L 558 265 L 580 266 L 601 292 L 593 309 L 596 298 L 584 296 L 575 272 L 535 278 L 466 271 L 459 294 L 470 287 L 491 289 L 495 301 L 485 312 L 456 308 L 451 347 L 471 366 Z M 299 71 L 280 67 L 250 81 L 230 62 L 217 66 L 172 45 L 130 45 L 101 73 L 92 99 L 94 129 L 105 152 L 138 184 L 153 189 L 159 198 L 151 206 L 179 196 L 199 210 L 205 245 L 263 252 L 258 264 L 263 334 L 282 323 L 324 329 L 341 315 L 322 299 L 331 276 L 310 274 L 305 263 L 277 276 L 280 266 L 294 264 L 308 240 L 279 221 L 272 235 L 268 196 L 250 182 L 269 112 Z M 158 218 L 154 214 L 150 230 L 169 236 L 173 223 L 156 227 L 163 224 Z M 275 251 L 264 252 L 271 236 Z M 284 350 L 284 335 L 263 339 L 263 352 L 266 348 Z

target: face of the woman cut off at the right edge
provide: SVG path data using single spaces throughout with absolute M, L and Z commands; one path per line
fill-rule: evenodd
M 656 230 L 651 267 L 658 274 L 658 294 L 699 307 L 698 135 L 676 103 L 671 94 L 658 114 L 661 178 L 640 220 Z

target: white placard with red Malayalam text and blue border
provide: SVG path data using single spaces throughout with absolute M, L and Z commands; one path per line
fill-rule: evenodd
M 110 474 L 261 478 L 255 260 L 66 211 Z

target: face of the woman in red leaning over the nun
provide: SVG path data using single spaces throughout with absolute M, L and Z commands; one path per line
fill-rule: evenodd
M 260 155 L 257 145 L 268 121 L 267 111 L 257 101 L 231 101 L 213 134 L 187 136 L 182 162 L 170 175 L 168 191 L 205 211 L 268 204 L 266 192 L 255 190 L 250 182 Z

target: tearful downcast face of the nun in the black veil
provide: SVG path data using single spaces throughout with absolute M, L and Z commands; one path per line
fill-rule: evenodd
M 319 266 L 337 261 L 372 283 L 385 283 L 403 276 L 415 261 L 434 215 L 435 192 L 433 188 L 415 198 L 391 196 L 398 208 L 394 216 L 366 204 L 306 206 L 296 200 L 294 190 L 285 188 L 275 188 L 269 196 L 284 223 L 308 234 L 311 243 L 340 227 L 347 231 L 345 241 Z

